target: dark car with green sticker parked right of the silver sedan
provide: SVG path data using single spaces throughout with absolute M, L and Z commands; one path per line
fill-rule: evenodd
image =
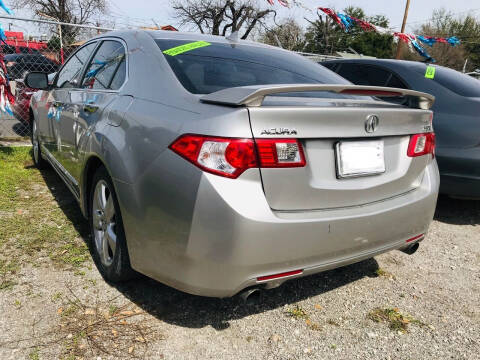
M 440 192 L 460 198 L 480 198 L 478 80 L 449 68 L 415 61 L 352 59 L 321 64 L 356 85 L 412 89 L 434 95 Z M 396 104 L 405 101 L 399 97 L 384 100 Z

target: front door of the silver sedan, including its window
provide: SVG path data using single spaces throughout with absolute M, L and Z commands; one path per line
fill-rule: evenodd
M 89 43 L 75 52 L 62 67 L 54 81 L 52 90 L 46 101 L 49 131 L 45 146 L 60 165 L 60 170 L 72 181 L 72 135 L 73 118 L 77 109 L 72 102 L 80 83 L 83 70 L 90 59 L 96 42 Z

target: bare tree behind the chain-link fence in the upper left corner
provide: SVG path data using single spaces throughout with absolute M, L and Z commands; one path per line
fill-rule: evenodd
M 84 25 L 95 24 L 93 18 L 106 13 L 107 2 L 108 0 L 14 0 L 13 7 L 30 9 L 36 17 L 50 17 L 60 22 Z M 78 32 L 79 28 L 62 26 L 65 39 L 73 41 Z

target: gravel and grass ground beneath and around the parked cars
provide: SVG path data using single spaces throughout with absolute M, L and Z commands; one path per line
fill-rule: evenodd
M 147 278 L 107 284 L 75 200 L 29 156 L 0 147 L 0 359 L 480 358 L 480 202 L 441 197 L 414 255 L 290 281 L 245 306 Z

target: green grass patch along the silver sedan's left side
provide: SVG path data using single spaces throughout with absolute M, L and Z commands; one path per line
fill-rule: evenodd
M 0 147 L 0 174 L 0 289 L 15 285 L 19 264 L 50 258 L 75 271 L 91 261 L 75 199 L 52 169 L 33 166 L 31 148 Z

